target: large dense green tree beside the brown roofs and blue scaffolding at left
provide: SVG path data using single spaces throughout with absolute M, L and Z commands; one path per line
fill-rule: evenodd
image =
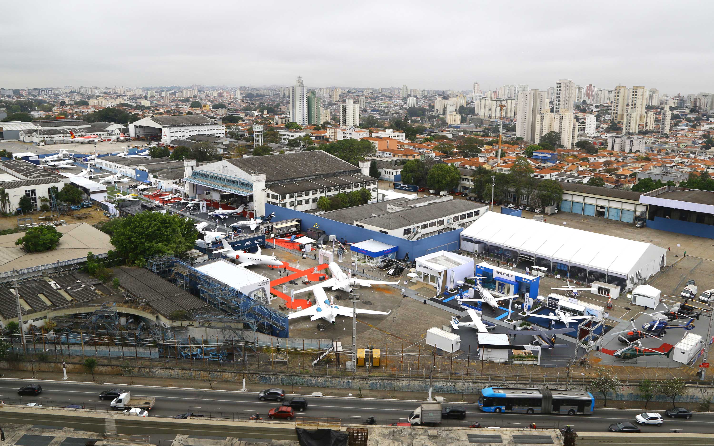
M 142 212 L 122 218 L 114 227 L 111 244 L 129 265 L 144 265 L 151 255 L 181 254 L 193 248 L 196 228 L 181 216 Z

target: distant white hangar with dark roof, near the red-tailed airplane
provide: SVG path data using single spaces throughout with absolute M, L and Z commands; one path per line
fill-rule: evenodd
M 160 139 L 167 144 L 198 133 L 226 136 L 226 126 L 203 115 L 149 116 L 129 124 L 129 136 L 132 138 Z

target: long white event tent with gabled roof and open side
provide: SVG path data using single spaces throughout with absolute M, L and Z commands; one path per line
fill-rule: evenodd
M 618 285 L 621 292 L 645 283 L 666 265 L 667 250 L 652 243 L 591 233 L 488 212 L 461 233 L 461 250 L 536 265 L 553 275 Z

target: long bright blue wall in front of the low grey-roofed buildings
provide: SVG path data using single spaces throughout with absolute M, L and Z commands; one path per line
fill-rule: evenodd
M 381 241 L 382 243 L 398 247 L 399 250 L 396 254 L 397 258 L 404 258 L 404 255 L 409 253 L 409 258 L 411 260 L 421 257 L 421 255 L 426 255 L 439 250 L 458 250 L 459 235 L 463 230 L 450 230 L 447 233 L 432 235 L 431 237 L 411 241 L 366 228 L 358 228 L 357 226 L 330 220 L 329 218 L 313 216 L 311 214 L 295 211 L 293 209 L 266 204 L 266 214 L 271 212 L 274 212 L 276 215 L 275 221 L 288 220 L 289 218 L 300 218 L 302 221 L 303 231 L 306 230 L 306 228 L 319 228 L 324 230 L 325 233 L 329 235 L 336 235 L 338 240 L 345 238 L 348 243 L 357 243 L 373 238 L 374 240 Z

